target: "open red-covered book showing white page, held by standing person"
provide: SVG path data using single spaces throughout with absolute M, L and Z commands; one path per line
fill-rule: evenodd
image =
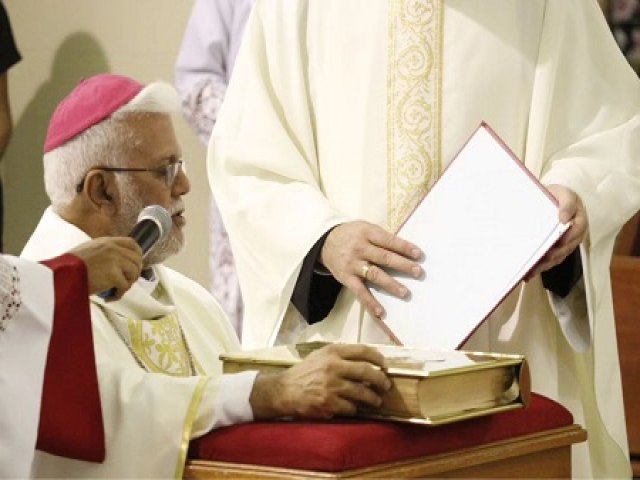
M 401 300 L 372 286 L 383 326 L 400 344 L 459 348 L 558 241 L 558 205 L 482 124 L 398 235 L 424 252 L 423 279 L 390 272 Z

